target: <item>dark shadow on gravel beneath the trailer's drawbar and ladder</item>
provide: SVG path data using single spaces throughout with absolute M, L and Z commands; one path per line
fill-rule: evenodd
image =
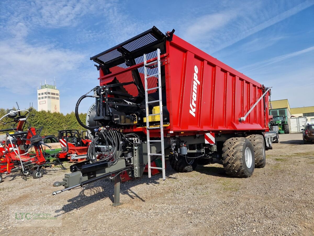
M 176 177 L 171 177 L 172 174 L 176 173 L 171 169 L 169 161 L 166 160 L 166 180 L 168 179 L 176 179 Z M 113 181 L 113 180 L 112 180 Z M 157 174 L 148 178 L 147 174 L 143 174 L 141 178 L 133 179 L 128 182 L 124 182 L 120 184 L 120 194 L 128 195 L 131 199 L 139 199 L 140 201 L 145 201 L 139 194 L 134 192 L 131 188 L 140 184 L 147 185 L 157 185 L 162 182 L 162 174 Z M 153 186 L 151 186 L 153 188 Z M 66 194 L 66 192 L 64 193 Z M 84 206 L 87 206 L 93 202 L 101 201 L 103 199 L 109 198 L 112 202 L 114 200 L 114 182 L 99 180 L 89 185 L 86 185 L 78 196 L 75 196 L 71 199 L 68 199 L 68 204 L 63 205 L 63 207 L 57 211 L 59 213 L 57 216 L 60 216 L 64 213 L 81 209 Z M 62 212 L 64 211 L 64 212 Z M 56 216 L 56 217 L 57 217 Z

